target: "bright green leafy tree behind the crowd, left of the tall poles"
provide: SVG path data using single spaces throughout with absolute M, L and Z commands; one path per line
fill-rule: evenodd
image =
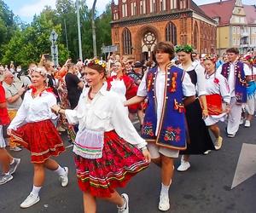
M 24 30 L 17 30 L 10 42 L 4 46 L 3 63 L 9 64 L 14 60 L 16 65 L 28 66 L 29 63 L 38 62 L 40 55 L 50 53 L 50 32 L 61 34 L 61 25 L 54 22 L 57 16 L 54 10 L 48 7 L 34 17 L 32 24 Z M 58 43 L 59 61 L 64 63 L 67 60 L 67 49 L 62 43 Z

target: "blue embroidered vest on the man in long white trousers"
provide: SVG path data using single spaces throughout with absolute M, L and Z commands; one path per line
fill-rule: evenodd
M 222 66 L 221 74 L 224 76 L 224 78 L 229 78 L 230 63 L 225 63 Z M 247 102 L 247 83 L 245 78 L 246 77 L 243 70 L 243 63 L 241 61 L 237 61 L 235 63 L 235 96 L 237 103 Z

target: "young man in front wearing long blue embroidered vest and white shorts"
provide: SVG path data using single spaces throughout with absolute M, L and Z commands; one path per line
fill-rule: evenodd
M 195 86 L 186 72 L 172 66 L 174 48 L 171 43 L 158 43 L 153 55 L 156 66 L 144 75 L 137 96 L 126 101 L 125 106 L 148 97 L 142 136 L 148 141 L 152 161 L 161 168 L 159 210 L 169 210 L 173 161 L 179 150 L 187 147 L 183 101 L 195 99 Z

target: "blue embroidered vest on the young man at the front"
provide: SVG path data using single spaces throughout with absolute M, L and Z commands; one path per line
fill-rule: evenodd
M 146 141 L 156 141 L 160 147 L 184 150 L 187 148 L 182 89 L 185 72 L 176 66 L 167 66 L 160 126 L 155 134 L 157 125 L 155 79 L 157 72 L 158 68 L 155 66 L 148 71 L 146 78 L 148 107 L 145 111 L 142 136 Z

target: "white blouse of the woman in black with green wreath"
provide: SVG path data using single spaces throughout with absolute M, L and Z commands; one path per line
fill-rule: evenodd
M 179 64 L 177 67 L 183 69 L 182 64 Z M 186 72 L 195 70 L 196 73 L 196 78 L 197 78 L 197 83 L 196 83 L 196 92 L 198 96 L 201 95 L 206 95 L 206 79 L 205 79 L 205 68 L 202 67 L 200 64 L 197 62 L 192 62 L 192 65 L 189 66 L 189 69 L 186 70 Z

